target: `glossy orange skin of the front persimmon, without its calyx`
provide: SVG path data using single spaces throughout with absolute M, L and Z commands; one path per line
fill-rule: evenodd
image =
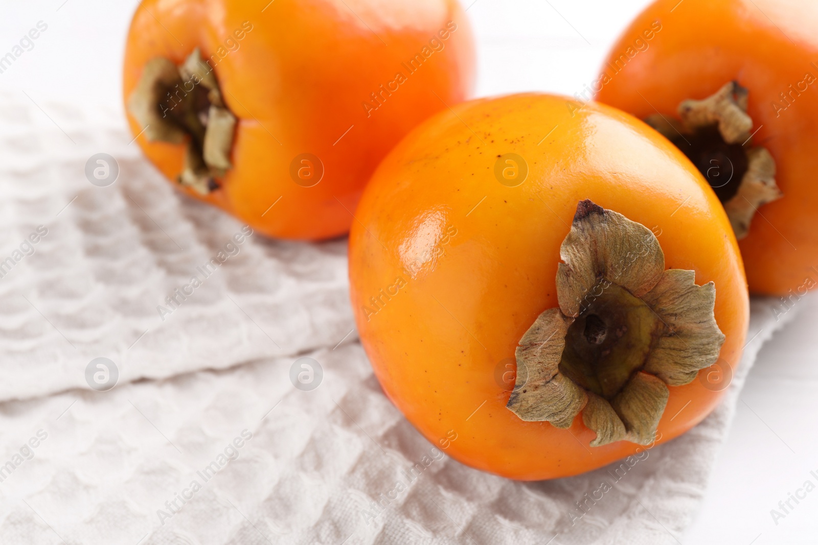
M 581 415 L 568 430 L 523 422 L 495 378 L 537 315 L 558 306 L 560 243 L 578 201 L 657 227 L 668 268 L 716 284 L 721 358 L 732 369 L 748 324 L 735 237 L 699 172 L 636 118 L 593 103 L 572 117 L 568 105 L 524 94 L 434 116 L 380 164 L 350 231 L 357 328 L 386 394 L 453 458 L 520 480 L 576 475 L 645 449 L 587 446 L 595 435 Z M 528 163 L 517 187 L 493 174 L 507 153 Z M 658 442 L 700 422 L 723 393 L 699 380 L 670 391 Z

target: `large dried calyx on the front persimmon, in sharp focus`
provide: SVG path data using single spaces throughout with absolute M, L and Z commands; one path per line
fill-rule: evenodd
M 520 339 L 506 407 L 560 428 L 582 411 L 596 431 L 591 446 L 649 444 L 668 386 L 692 382 L 718 358 L 716 288 L 696 285 L 692 270 L 665 270 L 651 230 L 590 200 L 578 204 L 560 257 L 560 306 Z

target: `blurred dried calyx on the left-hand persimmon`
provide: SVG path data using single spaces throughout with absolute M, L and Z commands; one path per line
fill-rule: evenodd
M 164 57 L 149 60 L 128 98 L 128 111 L 149 141 L 182 144 L 187 138 L 181 185 L 199 194 L 218 188 L 232 167 L 236 117 L 222 100 L 213 69 L 196 48 L 181 66 Z

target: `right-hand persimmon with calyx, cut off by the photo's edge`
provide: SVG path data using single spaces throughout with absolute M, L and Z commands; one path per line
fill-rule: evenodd
M 591 84 L 708 179 L 752 293 L 800 297 L 818 283 L 816 25 L 812 0 L 659 0 Z

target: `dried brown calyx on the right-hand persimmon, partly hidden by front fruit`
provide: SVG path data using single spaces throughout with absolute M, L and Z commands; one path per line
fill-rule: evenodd
M 775 185 L 775 160 L 753 146 L 748 91 L 726 83 L 703 101 L 679 105 L 681 121 L 654 114 L 645 119 L 694 163 L 721 200 L 737 239 L 744 239 L 762 204 L 783 195 Z

